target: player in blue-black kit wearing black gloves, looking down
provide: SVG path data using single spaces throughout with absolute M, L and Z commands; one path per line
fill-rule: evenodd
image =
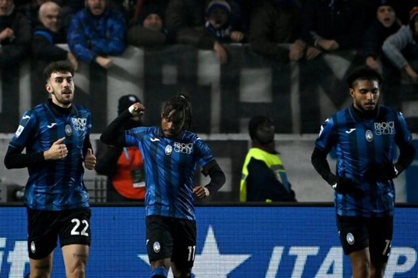
M 321 125 L 312 164 L 335 189 L 339 237 L 353 278 L 382 278 L 393 233 L 393 179 L 412 163 L 415 149 L 403 115 L 378 104 L 379 72 L 361 67 L 347 82 L 353 103 Z M 327 161 L 333 147 L 335 174 Z

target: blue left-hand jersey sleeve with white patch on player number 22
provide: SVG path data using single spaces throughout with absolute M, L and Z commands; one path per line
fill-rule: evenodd
M 23 151 L 30 140 L 36 136 L 37 119 L 31 111 L 26 111 L 20 119 L 19 126 L 10 140 L 9 146 Z

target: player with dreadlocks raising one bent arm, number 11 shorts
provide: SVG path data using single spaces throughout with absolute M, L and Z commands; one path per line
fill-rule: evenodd
M 124 122 L 144 113 L 135 103 L 102 133 L 105 144 L 138 146 L 144 157 L 146 243 L 151 278 L 190 277 L 196 251 L 194 196 L 208 197 L 225 183 L 225 174 L 206 143 L 187 130 L 192 124 L 189 96 L 182 92 L 167 101 L 159 126 L 135 127 L 120 133 Z M 193 185 L 196 164 L 210 177 Z

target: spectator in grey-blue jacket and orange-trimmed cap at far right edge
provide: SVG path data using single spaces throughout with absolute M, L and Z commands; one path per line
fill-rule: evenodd
M 389 61 L 403 71 L 412 82 L 418 82 L 417 68 L 410 61 L 418 59 L 418 6 L 409 13 L 409 24 L 402 26 L 396 33 L 383 42 L 382 50 Z M 404 55 L 405 54 L 405 55 Z

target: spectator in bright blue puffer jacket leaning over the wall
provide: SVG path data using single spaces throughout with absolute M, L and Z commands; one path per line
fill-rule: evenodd
M 86 8 L 74 14 L 67 34 L 71 53 L 83 62 L 96 62 L 109 68 L 108 56 L 126 48 L 127 23 L 123 12 L 107 6 L 106 0 L 86 0 Z

